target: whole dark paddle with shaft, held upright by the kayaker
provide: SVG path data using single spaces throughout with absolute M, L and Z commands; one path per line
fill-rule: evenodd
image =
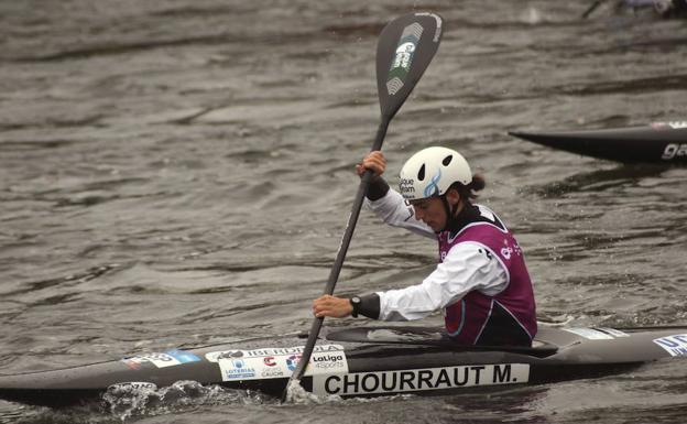
M 441 40 L 441 18 L 434 13 L 408 13 L 384 26 L 377 45 L 377 89 L 379 93 L 381 122 L 371 151 L 381 150 L 389 122 L 396 115 L 413 87 L 432 62 Z M 364 194 L 370 185 L 372 171 L 367 170 L 360 180 L 353 200 L 348 225 L 336 260 L 329 273 L 324 294 L 332 294 L 348 246 L 356 229 Z M 310 360 L 315 343 L 324 318 L 313 319 L 308 339 L 294 370 L 282 400 L 286 399 L 288 388 L 301 381 Z

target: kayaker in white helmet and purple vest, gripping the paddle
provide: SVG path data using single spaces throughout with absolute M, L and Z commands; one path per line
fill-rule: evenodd
M 374 177 L 366 204 L 384 222 L 439 241 L 439 264 L 422 283 L 351 298 L 313 302 L 318 317 L 363 315 L 382 320 L 421 319 L 444 309 L 446 330 L 469 345 L 530 346 L 536 334 L 532 282 L 523 252 L 501 219 L 473 204 L 484 180 L 451 149 L 415 153 L 400 173 L 400 192 L 382 178 L 384 155 L 357 165 Z

